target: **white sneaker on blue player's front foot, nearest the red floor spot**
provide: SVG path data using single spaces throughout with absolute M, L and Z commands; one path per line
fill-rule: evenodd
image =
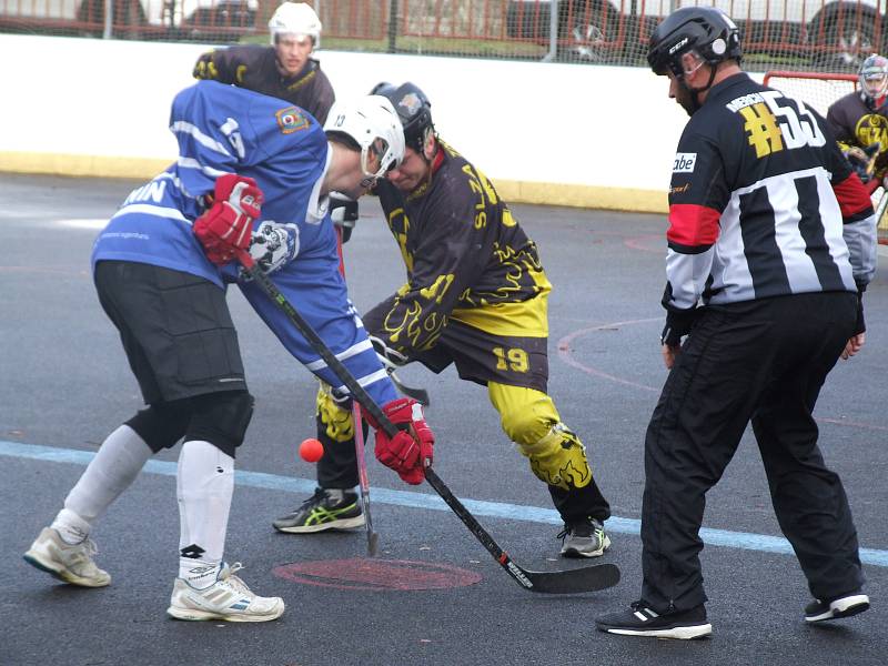
M 234 575 L 240 562 L 222 565 L 219 578 L 210 587 L 195 589 L 182 578 L 173 584 L 167 614 L 176 619 L 226 619 L 229 622 L 268 622 L 283 615 L 281 597 L 261 597 Z

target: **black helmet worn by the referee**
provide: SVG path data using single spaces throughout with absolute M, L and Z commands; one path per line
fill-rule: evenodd
M 684 77 L 682 56 L 695 51 L 708 64 L 740 61 L 740 34 L 734 21 L 714 7 L 683 7 L 657 26 L 650 36 L 647 62 L 654 73 Z

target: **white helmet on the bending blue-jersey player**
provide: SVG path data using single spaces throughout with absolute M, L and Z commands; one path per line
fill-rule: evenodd
M 361 170 L 367 179 L 385 175 L 404 159 L 404 128 L 392 102 L 380 94 L 369 94 L 350 102 L 334 102 L 324 131 L 343 134 L 361 149 Z M 379 160 L 375 171 L 370 159 Z

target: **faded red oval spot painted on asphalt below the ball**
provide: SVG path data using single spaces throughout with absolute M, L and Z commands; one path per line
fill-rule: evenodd
M 448 589 L 482 581 L 475 572 L 446 564 L 363 557 L 293 562 L 274 567 L 272 574 L 305 585 L 369 591 Z

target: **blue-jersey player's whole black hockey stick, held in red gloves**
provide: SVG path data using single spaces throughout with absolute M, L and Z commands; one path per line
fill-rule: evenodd
M 349 389 L 352 397 L 361 404 L 364 411 L 373 415 L 373 418 L 380 424 L 385 434 L 390 437 L 394 436 L 397 433 L 397 427 L 389 420 L 380 406 L 373 402 L 373 398 L 370 397 L 370 394 L 364 387 L 357 383 L 357 380 L 349 372 L 349 369 L 336 359 L 335 354 L 333 354 L 324 341 L 321 340 L 309 322 L 302 319 L 302 315 L 296 312 L 274 282 L 255 265 L 253 258 L 250 256 L 248 252 L 242 251 L 239 253 L 239 260 L 243 264 L 244 270 L 252 276 L 255 284 L 259 285 L 259 287 L 265 292 L 265 295 L 268 295 L 287 316 L 309 344 L 312 345 L 314 351 L 327 364 L 327 367 L 330 367 L 339 380 Z M 547 594 L 575 594 L 604 589 L 619 582 L 619 568 L 614 564 L 598 564 L 558 572 L 532 572 L 518 566 L 512 561 L 508 553 L 503 551 L 487 531 L 482 527 L 477 518 L 475 518 L 463 503 L 454 496 L 446 484 L 431 467 L 426 467 L 425 478 L 435 492 L 441 495 L 441 498 L 444 500 L 447 506 L 451 507 L 453 513 L 455 513 L 472 534 L 475 535 L 475 538 L 477 538 L 487 552 L 493 555 L 500 566 L 502 566 L 524 589 Z

